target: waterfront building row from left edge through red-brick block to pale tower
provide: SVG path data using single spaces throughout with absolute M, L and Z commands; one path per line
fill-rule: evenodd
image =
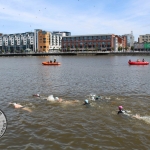
M 50 52 L 60 51 L 118 51 L 134 46 L 134 36 L 131 34 L 92 34 L 73 35 L 67 31 L 44 31 L 0 34 L 0 51 L 4 52 Z

